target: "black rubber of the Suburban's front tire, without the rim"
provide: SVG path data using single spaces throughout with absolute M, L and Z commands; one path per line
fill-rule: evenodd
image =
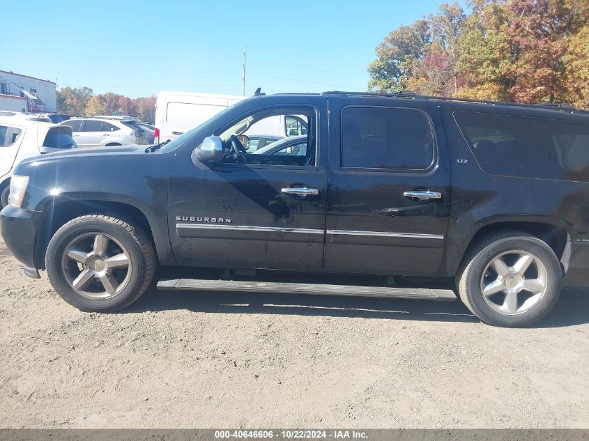
M 46 268 L 49 280 L 57 293 L 69 304 L 82 311 L 115 311 L 132 303 L 146 277 L 146 259 L 137 241 L 124 226 L 100 219 L 75 219 L 66 228 L 60 229 L 47 247 Z M 115 238 L 128 252 L 132 274 L 121 293 L 108 299 L 87 299 L 77 294 L 68 284 L 61 270 L 61 258 L 68 243 L 84 233 L 105 233 Z M 139 293 L 140 294 L 140 293 Z

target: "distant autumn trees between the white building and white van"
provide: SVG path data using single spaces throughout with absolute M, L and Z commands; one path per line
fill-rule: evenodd
M 128 98 L 118 93 L 98 93 L 91 88 L 63 87 L 57 91 L 57 111 L 75 116 L 112 115 L 120 111 L 123 116 L 135 116 L 141 121 L 153 123 L 155 120 L 155 96 Z

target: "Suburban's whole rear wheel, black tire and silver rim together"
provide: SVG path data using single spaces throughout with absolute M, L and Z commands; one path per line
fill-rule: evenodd
M 546 242 L 521 231 L 504 231 L 471 249 L 457 286 L 462 302 L 482 322 L 525 327 L 552 309 L 562 279 L 560 262 Z

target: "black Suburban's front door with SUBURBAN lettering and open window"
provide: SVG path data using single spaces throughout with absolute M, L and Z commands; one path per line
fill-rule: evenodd
M 178 153 L 168 213 L 179 265 L 321 270 L 327 163 L 326 157 L 315 152 L 326 148 L 326 99 L 316 97 L 309 103 L 307 98 L 304 104 L 293 102 L 284 109 L 264 107 L 263 117 L 293 111 L 306 115 L 313 127 L 306 157 L 253 155 L 247 150 L 242 150 L 240 158 L 233 155 L 227 135 L 245 131 L 246 118 L 261 121 L 255 109 L 241 114 L 229 129 L 218 127 L 211 133 L 224 138 L 227 158 L 223 163 L 201 164 L 191 159 L 192 148 Z

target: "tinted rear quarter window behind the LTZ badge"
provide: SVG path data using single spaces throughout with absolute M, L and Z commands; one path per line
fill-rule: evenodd
M 589 124 L 467 111 L 454 118 L 487 173 L 589 180 Z

